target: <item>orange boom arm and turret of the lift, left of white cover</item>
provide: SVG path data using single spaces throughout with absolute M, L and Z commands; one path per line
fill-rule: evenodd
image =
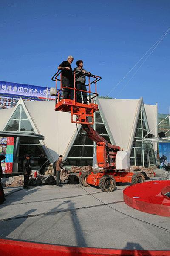
M 115 159 L 120 147 L 108 143 L 91 125 L 82 124 L 82 128 L 87 132 L 88 137 L 97 143 L 96 153 L 98 166 L 104 169 L 116 169 Z

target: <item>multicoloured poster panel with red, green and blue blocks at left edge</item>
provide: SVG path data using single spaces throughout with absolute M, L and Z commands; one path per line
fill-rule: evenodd
M 0 137 L 0 154 L 5 155 L 1 166 L 3 173 L 12 173 L 14 153 L 14 137 Z

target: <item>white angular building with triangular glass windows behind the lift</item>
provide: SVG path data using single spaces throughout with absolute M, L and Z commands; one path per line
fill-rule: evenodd
M 146 146 L 146 143 L 136 140 L 142 139 L 156 126 L 157 105 L 144 105 L 142 98 L 97 98 L 96 103 L 99 112 L 94 116 L 94 129 L 108 142 L 129 151 L 132 165 L 154 165 L 156 148 L 152 143 Z M 54 101 L 23 102 L 20 99 L 16 107 L 0 110 L 0 131 L 42 134 L 45 137 L 40 142 L 20 145 L 19 157 L 28 149 L 34 159 L 45 151 L 51 163 L 62 154 L 67 165 L 92 164 L 95 143 L 85 135 L 81 125 L 71 123 L 70 113 L 54 111 L 54 105 Z M 157 134 L 156 128 L 153 134 Z

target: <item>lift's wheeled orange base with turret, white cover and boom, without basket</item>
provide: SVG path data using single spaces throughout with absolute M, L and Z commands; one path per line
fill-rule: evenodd
M 130 157 L 128 152 L 119 146 L 111 145 L 91 125 L 82 124 L 88 137 L 97 143 L 97 164 L 102 170 L 99 172 L 80 172 L 79 182 L 82 186 L 99 186 L 103 192 L 112 192 L 117 182 L 141 183 L 144 182 L 142 173 L 129 172 Z

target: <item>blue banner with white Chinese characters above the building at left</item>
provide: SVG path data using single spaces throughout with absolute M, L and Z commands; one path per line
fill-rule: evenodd
M 50 96 L 50 89 L 47 89 L 45 87 L 0 81 L 0 93 L 3 93 L 3 94 L 46 98 L 47 90 L 48 90 L 49 99 L 55 99 L 54 96 Z

